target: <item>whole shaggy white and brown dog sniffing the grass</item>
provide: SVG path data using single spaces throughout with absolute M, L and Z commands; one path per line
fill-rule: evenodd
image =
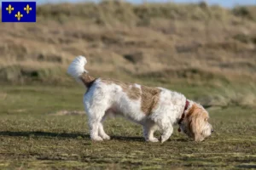
M 170 138 L 173 125 L 195 141 L 202 141 L 213 132 L 207 111 L 183 94 L 166 88 L 148 88 L 139 84 L 94 78 L 84 70 L 87 63 L 79 56 L 69 65 L 67 73 L 82 82 L 84 108 L 89 118 L 90 138 L 110 139 L 104 132 L 103 120 L 108 115 L 125 116 L 143 126 L 146 141 L 158 142 L 154 132 L 162 132 L 161 142 Z

